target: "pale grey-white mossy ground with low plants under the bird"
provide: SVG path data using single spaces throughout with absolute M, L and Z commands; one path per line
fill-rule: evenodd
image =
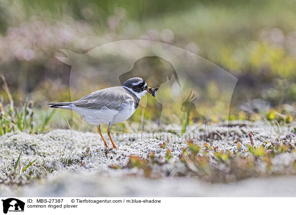
M 7 133 L 0 195 L 295 196 L 295 124 L 213 124 L 217 135 L 205 141 L 194 128 L 185 141 L 172 132 L 121 134 L 118 149 L 106 149 L 98 133 Z

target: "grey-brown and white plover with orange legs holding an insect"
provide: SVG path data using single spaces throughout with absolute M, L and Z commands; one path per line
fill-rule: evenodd
M 113 148 L 117 148 L 110 135 L 111 125 L 127 120 L 136 111 L 140 99 L 148 92 L 156 96 L 157 90 L 157 87 L 155 89 L 148 87 L 143 78 L 133 77 L 125 81 L 122 86 L 98 90 L 74 102 L 48 105 L 73 110 L 89 124 L 99 125 L 98 132 L 106 147 L 108 144 L 102 135 L 101 125 L 108 124 L 107 134 Z

